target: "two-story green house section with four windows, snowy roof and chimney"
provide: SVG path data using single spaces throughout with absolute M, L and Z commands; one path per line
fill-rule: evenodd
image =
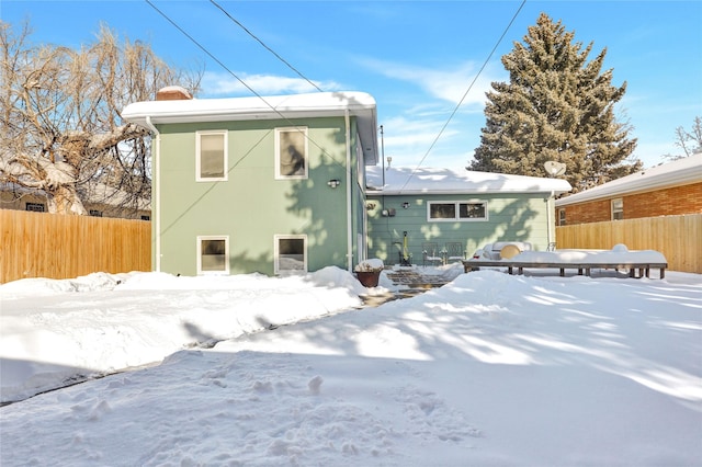
M 362 92 L 127 105 L 152 139 L 152 264 L 172 274 L 352 270 L 365 259 L 375 100 Z

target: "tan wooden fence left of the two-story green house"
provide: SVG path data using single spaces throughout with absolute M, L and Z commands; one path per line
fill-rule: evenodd
M 151 223 L 0 209 L 0 284 L 151 270 Z

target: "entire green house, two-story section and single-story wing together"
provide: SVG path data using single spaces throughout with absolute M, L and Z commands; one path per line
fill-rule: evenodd
M 172 87 L 122 116 L 154 134 L 152 263 L 171 274 L 352 271 L 367 258 L 405 259 L 398 242 L 418 262 L 420 240 L 546 249 L 554 197 L 570 190 L 378 169 L 376 104 L 362 92 L 197 100 Z

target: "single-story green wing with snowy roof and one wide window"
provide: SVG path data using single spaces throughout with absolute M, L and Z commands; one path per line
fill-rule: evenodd
M 444 255 L 455 255 L 452 243 L 460 244 L 460 255 L 498 241 L 546 250 L 555 242 L 555 196 L 570 190 L 561 179 L 373 168 L 366 192 L 369 254 L 395 262 L 408 253 L 412 263 L 422 264 L 428 244 L 445 250 Z

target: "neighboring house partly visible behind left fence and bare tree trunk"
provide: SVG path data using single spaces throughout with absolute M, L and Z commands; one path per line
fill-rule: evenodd
M 148 200 L 139 200 L 136 204 L 132 201 L 127 202 L 124 192 L 104 184 L 93 186 L 88 194 L 81 193 L 81 200 L 88 214 L 94 217 L 140 220 L 149 220 L 151 217 Z M 47 195 L 42 190 L 4 183 L 0 185 L 0 208 L 47 213 Z

